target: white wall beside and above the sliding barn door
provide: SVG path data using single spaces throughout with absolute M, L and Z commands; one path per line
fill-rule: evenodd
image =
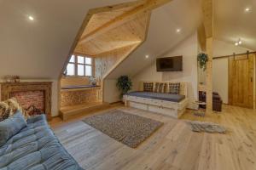
M 234 44 L 218 40 L 213 41 L 213 57 L 225 56 L 233 53 L 246 53 L 247 50 L 249 49 L 235 46 Z M 212 88 L 214 92 L 218 92 L 223 99 L 224 104 L 229 103 L 229 61 L 227 58 L 213 59 Z

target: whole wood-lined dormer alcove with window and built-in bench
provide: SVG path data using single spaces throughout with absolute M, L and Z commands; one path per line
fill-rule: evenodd
M 63 119 L 106 106 L 104 77 L 143 43 L 154 5 L 137 1 L 90 10 L 61 74 Z

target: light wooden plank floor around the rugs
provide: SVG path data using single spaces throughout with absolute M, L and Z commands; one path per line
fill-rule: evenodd
M 54 119 L 50 124 L 56 136 L 84 169 L 256 170 L 256 111 L 225 105 L 221 114 L 201 118 L 187 111 L 181 120 L 175 120 L 116 107 L 165 124 L 137 149 L 131 149 L 81 122 L 83 116 L 68 122 Z M 218 122 L 228 133 L 193 133 L 188 120 Z

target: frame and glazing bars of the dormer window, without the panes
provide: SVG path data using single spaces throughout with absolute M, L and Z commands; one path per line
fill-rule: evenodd
M 74 56 L 74 62 L 70 62 L 70 59 L 71 57 Z M 79 63 L 79 56 L 80 57 L 84 57 L 84 64 L 81 64 Z M 85 58 L 90 58 L 91 59 L 91 76 L 85 76 L 86 73 L 85 73 L 85 66 L 86 65 L 89 65 L 89 64 L 85 64 Z M 85 55 L 85 54 L 78 54 L 78 53 L 74 53 L 70 56 L 68 62 L 67 62 L 67 65 L 68 64 L 74 64 L 74 75 L 65 75 L 64 77 L 94 77 L 95 75 L 95 59 L 93 57 L 90 57 L 88 55 Z M 65 72 L 67 72 L 67 65 L 66 65 L 66 69 L 65 69 Z M 78 67 L 79 65 L 84 65 L 84 76 L 79 76 L 78 74 Z

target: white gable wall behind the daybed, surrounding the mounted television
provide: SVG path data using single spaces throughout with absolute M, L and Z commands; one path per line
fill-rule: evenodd
M 143 71 L 132 78 L 134 89 L 138 89 L 140 81 L 159 81 L 159 82 L 188 82 L 189 108 L 195 109 L 193 101 L 198 99 L 197 92 L 197 60 L 198 53 L 197 34 L 193 34 L 175 48 L 160 57 L 172 57 L 183 55 L 182 72 L 157 72 L 155 61 Z

